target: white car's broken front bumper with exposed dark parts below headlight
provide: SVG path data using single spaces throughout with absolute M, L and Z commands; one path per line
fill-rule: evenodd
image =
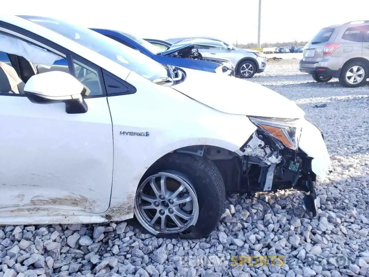
M 301 135 L 296 150 L 283 147 L 279 140 L 262 129 L 246 141 L 237 152 L 244 156 L 237 189 L 259 192 L 294 188 L 303 191 L 306 210 L 315 216 L 315 185 L 325 179 L 331 163 L 321 130 L 307 120 L 300 122 Z

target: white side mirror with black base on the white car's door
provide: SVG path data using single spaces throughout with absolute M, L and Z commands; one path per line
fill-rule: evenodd
M 82 98 L 86 88 L 72 75 L 49 71 L 32 76 L 24 86 L 24 94 L 32 103 L 64 102 L 67 113 L 85 113 L 87 104 Z

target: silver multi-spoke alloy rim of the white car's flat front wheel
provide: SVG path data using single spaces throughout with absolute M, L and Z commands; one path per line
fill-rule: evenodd
M 139 186 L 134 212 L 141 225 L 154 235 L 180 233 L 196 224 L 199 204 L 186 178 L 172 172 L 159 172 Z

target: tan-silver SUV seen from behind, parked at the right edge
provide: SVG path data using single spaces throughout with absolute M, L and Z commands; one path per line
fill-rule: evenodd
M 304 47 L 300 71 L 317 82 L 338 78 L 354 88 L 369 77 L 369 20 L 323 28 Z

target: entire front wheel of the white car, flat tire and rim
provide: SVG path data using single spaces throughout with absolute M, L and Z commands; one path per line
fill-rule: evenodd
M 223 213 L 223 178 L 207 157 L 170 153 L 145 174 L 135 196 L 134 213 L 154 235 L 180 233 L 199 239 L 217 226 Z

